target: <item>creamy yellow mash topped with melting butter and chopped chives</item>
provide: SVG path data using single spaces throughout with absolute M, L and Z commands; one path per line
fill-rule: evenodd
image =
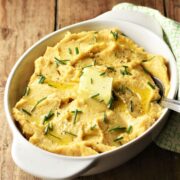
M 158 77 L 169 91 L 166 61 L 118 29 L 65 37 L 35 60 L 25 95 L 13 108 L 23 135 L 50 152 L 87 156 L 115 149 L 160 116 Z

